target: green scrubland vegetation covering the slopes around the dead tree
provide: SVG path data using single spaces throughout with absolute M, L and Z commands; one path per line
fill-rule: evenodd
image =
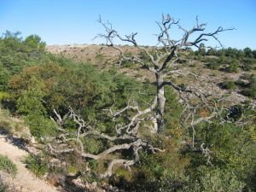
M 119 67 L 100 71 L 91 63 L 52 55 L 37 35 L 20 38 L 19 33 L 6 32 L 0 38 L 0 129 L 14 134 L 22 130 L 21 125 L 8 117 L 24 120 L 41 150 L 26 158 L 27 167 L 55 185 L 67 186 L 61 178 L 74 176 L 83 183 L 107 183 L 125 191 L 255 191 L 255 51 L 206 49 L 203 44 L 198 51 L 183 50 L 185 59 L 195 61 L 195 66 L 196 62 L 204 63 L 212 72 L 246 72 L 236 81 L 225 80 L 221 88 L 237 90 L 237 94 L 247 96 L 247 101 L 235 106 L 229 103 L 211 123 L 202 121 L 191 129 L 183 126 L 181 117 L 186 106 L 179 101 L 179 92 L 166 87 L 164 131 L 148 131 L 150 123 L 145 119 L 139 135 L 147 145 L 137 151 L 139 160 L 132 166 L 116 164 L 111 175 L 102 177 L 112 160 L 131 160 L 136 148 L 114 150 L 99 159 L 83 157 L 81 148 L 84 154 L 101 154 L 129 141 L 129 137 L 109 138 L 119 137 L 118 126 L 130 122 L 129 117 L 137 111 L 125 111 L 115 119 L 110 114 L 129 103 L 148 108 L 154 99 L 154 84 L 120 74 Z M 101 60 L 99 57 L 96 59 Z M 148 59 L 143 54 L 140 58 Z M 125 61 L 123 67 L 134 65 Z M 186 90 L 187 84 L 179 86 Z M 207 109 L 199 108 L 195 116 L 206 117 L 207 113 Z M 83 123 L 86 125 L 80 134 L 89 130 L 91 135 L 72 139 Z M 61 149 L 73 150 L 54 153 L 51 148 L 58 147 L 55 138 L 62 142 Z M 159 149 L 147 148 L 149 144 Z M 16 172 L 15 166 L 0 156 L 2 169 Z M 1 186 L 0 181 L 0 191 Z

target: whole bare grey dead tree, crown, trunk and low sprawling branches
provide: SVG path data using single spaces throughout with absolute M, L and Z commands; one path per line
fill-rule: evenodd
M 214 32 L 205 32 L 207 24 L 200 24 L 196 18 L 195 26 L 186 30 L 182 26 L 179 26 L 179 22 L 174 20 L 170 15 L 162 15 L 161 22 L 157 22 L 160 27 L 160 33 L 156 36 L 159 42 L 158 46 L 153 49 L 146 49 L 143 46 L 137 44 L 136 35 L 137 32 L 131 33 L 131 35 L 126 35 L 122 37 L 117 31 L 113 29 L 113 26 L 107 22 L 102 22 L 99 18 L 99 23 L 104 27 L 106 34 L 99 34 L 97 38 L 105 38 L 107 45 L 113 49 L 119 51 L 121 61 L 133 61 L 137 62 L 145 70 L 148 70 L 154 75 L 155 78 L 155 88 L 156 93 L 151 103 L 148 104 L 147 108 L 140 108 L 139 104 L 132 99 L 127 102 L 125 108 L 119 109 L 119 111 L 113 111 L 112 108 L 106 109 L 113 117 L 113 121 L 121 116 L 126 115 L 128 111 L 132 111 L 131 117 L 128 117 L 126 124 L 117 124 L 113 129 L 116 132 L 115 136 L 109 136 L 106 133 L 97 131 L 96 125 L 90 125 L 82 119 L 79 114 L 75 113 L 72 108 L 66 115 L 61 118 L 61 115 L 54 110 L 55 117 L 51 118 L 55 120 L 56 124 L 59 125 L 59 131 L 61 134 L 55 137 L 51 143 L 49 143 L 49 150 L 52 153 L 69 153 L 76 151 L 85 159 L 102 160 L 109 157 L 110 154 L 116 154 L 119 151 L 127 150 L 130 151 L 131 155 L 127 159 L 119 159 L 116 157 L 111 158 L 108 163 L 108 169 L 102 174 L 102 177 L 109 177 L 113 173 L 113 166 L 116 164 L 122 164 L 123 166 L 129 168 L 130 166 L 136 164 L 140 157 L 138 151 L 148 150 L 152 153 L 157 151 L 163 151 L 160 148 L 155 148 L 147 137 L 143 137 L 140 133 L 140 127 L 142 123 L 144 126 L 148 126 L 151 133 L 160 133 L 164 131 L 164 112 L 166 106 L 166 96 L 165 87 L 171 86 L 173 90 L 177 91 L 177 95 L 180 98 L 180 102 L 183 103 L 183 121 L 184 126 L 190 127 L 192 130 L 192 147 L 194 148 L 195 143 L 195 125 L 201 122 L 211 123 L 211 119 L 219 116 L 221 120 L 221 113 L 224 110 L 224 100 L 223 95 L 218 94 L 218 89 L 216 86 L 212 86 L 211 79 L 207 77 L 202 77 L 199 74 L 191 72 L 183 72 L 178 69 L 178 53 L 184 48 L 189 47 L 199 47 L 199 44 L 207 41 L 207 38 L 213 38 L 218 40 L 218 33 L 233 28 L 224 29 L 223 27 L 218 27 Z M 183 32 L 183 36 L 180 39 L 173 40 L 171 37 L 172 26 L 177 26 Z M 198 34 L 199 32 L 199 34 Z M 196 38 L 191 40 L 191 36 L 197 34 Z M 119 39 L 120 41 L 130 43 L 139 49 L 144 55 L 148 56 L 148 61 L 143 60 L 137 55 L 127 56 L 121 46 L 114 44 L 114 39 Z M 222 46 L 222 44 L 220 44 Z M 189 76 L 195 79 L 195 83 L 188 85 L 187 87 L 181 87 L 172 80 L 175 75 L 179 76 Z M 203 85 L 196 82 L 203 81 Z M 212 89 L 209 89 L 212 88 Z M 210 90 L 210 91 L 207 91 Z M 201 110 L 205 110 L 206 113 L 203 115 L 198 115 Z M 77 131 L 75 133 L 67 131 L 62 127 L 63 122 L 66 119 L 73 119 L 77 125 Z M 148 122 L 153 122 L 153 127 L 147 125 Z M 152 125 L 152 124 L 151 124 Z M 84 150 L 84 145 L 82 143 L 83 137 L 96 137 L 107 140 L 111 143 L 109 148 L 106 148 L 101 153 L 90 154 Z M 77 147 L 71 145 L 70 143 L 77 143 Z M 210 162 L 211 151 L 208 148 L 204 148 L 204 143 L 201 144 L 201 152 L 206 155 L 207 161 Z

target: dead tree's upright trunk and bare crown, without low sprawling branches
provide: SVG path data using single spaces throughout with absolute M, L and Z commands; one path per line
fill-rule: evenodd
M 218 33 L 225 32 L 229 30 L 233 30 L 234 28 L 227 28 L 224 29 L 222 26 L 219 26 L 214 32 L 205 32 L 206 31 L 206 23 L 199 23 L 196 17 L 195 26 L 190 29 L 186 30 L 182 26 L 179 25 L 179 20 L 174 20 L 170 15 L 162 15 L 162 20 L 157 22 L 157 25 L 160 28 L 160 33 L 156 35 L 158 40 L 158 45 L 154 47 L 151 51 L 146 49 L 145 47 L 137 44 L 136 36 L 137 32 L 132 32 L 130 35 L 125 35 L 122 37 L 119 32 L 113 29 L 111 23 L 107 22 L 104 23 L 99 18 L 98 22 L 102 24 L 105 29 L 105 34 L 98 34 L 96 38 L 104 38 L 106 39 L 106 44 L 113 49 L 117 49 L 119 51 L 119 55 L 121 61 L 132 61 L 137 62 L 143 67 L 144 69 L 148 70 L 152 73 L 155 77 L 155 88 L 156 88 L 156 100 L 157 104 L 154 109 L 154 118 L 157 122 L 157 131 L 161 132 L 165 128 L 164 124 L 164 113 L 165 113 L 165 106 L 166 106 L 166 96 L 165 96 L 165 86 L 170 85 L 174 90 L 177 90 L 179 95 L 182 94 L 189 94 L 194 95 L 203 100 L 202 97 L 205 97 L 206 100 L 209 94 L 204 93 L 203 90 L 199 88 L 196 89 L 183 89 L 182 87 L 175 84 L 173 81 L 166 80 L 166 78 L 173 77 L 174 74 L 188 76 L 193 75 L 193 73 L 183 73 L 181 70 L 178 70 L 178 53 L 181 52 L 182 49 L 186 49 L 189 47 L 196 47 L 199 48 L 199 44 L 202 42 L 206 42 L 208 38 L 215 39 L 218 44 L 222 46 L 220 41 L 218 40 Z M 171 30 L 173 26 L 177 26 L 182 32 L 183 36 L 180 39 L 174 40 L 172 39 Z M 193 38 L 192 37 L 196 37 Z M 138 57 L 137 55 L 127 56 L 125 55 L 124 50 L 121 46 L 117 46 L 114 44 L 114 40 L 118 39 L 122 42 L 129 43 L 139 49 L 144 55 L 148 56 L 149 61 L 145 61 L 142 58 Z M 120 61 L 120 62 L 121 62 Z M 206 80 L 206 79 L 203 79 Z M 183 102 L 188 102 L 184 99 Z M 186 104 L 185 104 L 186 105 Z M 212 113 L 211 116 L 212 117 Z M 209 117 L 205 118 L 208 119 Z M 195 121 L 194 121 L 195 123 Z

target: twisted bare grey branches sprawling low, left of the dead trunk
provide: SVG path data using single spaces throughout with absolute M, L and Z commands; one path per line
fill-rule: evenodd
M 58 131 L 60 131 L 60 135 L 52 138 L 48 143 L 49 152 L 53 154 L 76 152 L 84 159 L 104 160 L 108 159 L 110 154 L 115 154 L 122 150 L 130 150 L 131 158 L 128 160 L 111 158 L 111 161 L 108 163 L 106 172 L 102 173 L 101 177 L 112 176 L 113 166 L 116 164 L 121 164 L 126 168 L 130 168 L 130 166 L 136 164 L 140 160 L 138 154 L 139 150 L 148 150 L 151 153 L 155 153 L 156 151 L 163 151 L 160 148 L 154 148 L 154 146 L 150 144 L 146 138 L 140 136 L 138 130 L 140 123 L 146 120 L 142 117 L 143 114 L 148 113 L 151 108 L 154 108 L 155 104 L 156 100 L 153 102 L 153 106 L 150 106 L 149 108 L 141 111 L 137 105 L 132 106 L 128 103 L 127 107 L 122 110 L 117 112 L 111 111 L 113 118 L 117 118 L 122 113 L 125 113 L 126 110 L 134 110 L 136 112 L 136 114 L 130 119 L 130 122 L 127 125 L 116 125 L 116 136 L 108 136 L 108 134 L 97 131 L 96 126 L 92 126 L 89 123 L 86 123 L 84 119 L 79 116 L 79 114 L 73 111 L 73 108 L 69 108 L 68 113 L 65 114 L 63 118 L 61 118 L 61 115 L 57 113 L 56 110 L 54 110 L 55 116 L 51 117 L 51 119 L 55 121 L 55 123 L 59 126 Z M 77 131 L 72 132 L 63 128 L 62 125 L 65 124 L 67 119 L 73 119 L 77 125 Z M 84 137 L 105 139 L 108 143 L 111 143 L 111 147 L 106 148 L 99 154 L 90 154 L 84 150 L 84 144 L 82 143 L 82 139 Z M 76 143 L 77 145 L 75 146 L 77 147 L 71 143 Z

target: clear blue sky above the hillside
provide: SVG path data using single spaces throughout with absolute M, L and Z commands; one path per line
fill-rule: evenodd
M 38 34 L 47 44 L 100 44 L 91 39 L 103 32 L 96 22 L 102 15 L 119 33 L 138 32 L 140 44 L 155 44 L 154 21 L 161 13 L 187 28 L 196 15 L 209 31 L 234 26 L 236 31 L 219 35 L 224 46 L 256 49 L 256 0 L 0 0 L 0 33 Z

